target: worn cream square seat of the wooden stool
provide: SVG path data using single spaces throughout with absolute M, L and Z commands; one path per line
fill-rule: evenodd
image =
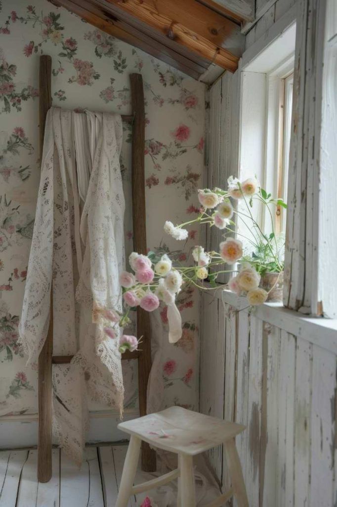
M 182 407 L 170 407 L 156 414 L 121 422 L 118 429 L 159 449 L 195 456 L 236 437 L 245 426 Z

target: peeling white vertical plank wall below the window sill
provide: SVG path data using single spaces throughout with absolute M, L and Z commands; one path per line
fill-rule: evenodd
M 237 447 L 249 505 L 335 506 L 337 354 L 310 333 L 296 337 L 229 304 L 221 309 L 210 294 L 202 298 L 200 409 L 247 426 Z M 210 457 L 225 489 L 225 460 L 219 450 Z

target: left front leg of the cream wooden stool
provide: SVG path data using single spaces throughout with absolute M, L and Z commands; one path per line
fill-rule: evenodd
M 123 472 L 120 480 L 120 486 L 118 491 L 118 497 L 115 507 L 127 507 L 129 498 L 131 496 L 131 490 L 134 484 L 136 475 L 139 453 L 142 441 L 131 436 L 127 456 L 125 457 Z

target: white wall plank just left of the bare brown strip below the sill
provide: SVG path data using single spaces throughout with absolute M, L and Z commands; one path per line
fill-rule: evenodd
M 250 316 L 249 393 L 248 393 L 248 451 L 246 488 L 251 505 L 259 505 L 259 463 L 262 403 L 262 330 L 263 322 Z

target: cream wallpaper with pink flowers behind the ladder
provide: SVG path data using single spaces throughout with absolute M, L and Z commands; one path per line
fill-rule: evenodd
M 1 5 L 1 4 L 0 4 Z M 0 12 L 0 415 L 37 410 L 37 372 L 25 366 L 17 345 L 24 283 L 34 224 L 38 161 L 39 55 L 53 58 L 53 105 L 131 113 L 129 74 L 143 76 L 146 100 L 146 206 L 149 250 L 170 248 L 189 261 L 197 241 L 164 235 L 163 224 L 198 212 L 204 149 L 204 85 L 95 29 L 47 0 L 3 2 Z M 131 131 L 124 125 L 121 169 L 129 203 L 125 243 L 132 251 Z M 197 409 L 198 295 L 191 287 L 178 299 L 184 333 L 161 351 L 164 399 Z M 160 333 L 167 333 L 160 310 Z M 126 406 L 137 404 L 137 361 L 123 361 Z M 92 409 L 95 409 L 94 405 Z

